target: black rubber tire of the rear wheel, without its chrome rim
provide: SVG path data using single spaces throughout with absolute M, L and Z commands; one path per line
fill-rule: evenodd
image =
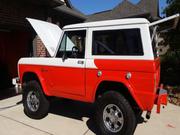
M 116 105 L 121 110 L 124 118 L 123 126 L 118 132 L 110 131 L 103 120 L 104 109 L 111 104 Z M 124 96 L 115 91 L 106 92 L 97 99 L 95 122 L 97 124 L 97 134 L 100 135 L 133 135 L 137 125 L 136 116 L 131 105 Z

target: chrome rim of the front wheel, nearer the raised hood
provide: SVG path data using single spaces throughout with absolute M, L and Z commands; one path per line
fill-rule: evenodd
M 37 92 L 30 91 L 27 95 L 27 105 L 32 112 L 36 112 L 39 109 L 39 99 Z

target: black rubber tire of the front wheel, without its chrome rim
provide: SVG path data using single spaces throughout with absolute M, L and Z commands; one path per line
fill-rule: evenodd
M 27 98 L 30 92 L 36 93 L 36 97 L 39 100 L 39 107 L 35 111 L 32 111 L 28 106 Z M 24 113 L 32 119 L 42 119 L 48 114 L 49 101 L 44 95 L 41 85 L 37 81 L 29 81 L 23 87 L 23 106 Z

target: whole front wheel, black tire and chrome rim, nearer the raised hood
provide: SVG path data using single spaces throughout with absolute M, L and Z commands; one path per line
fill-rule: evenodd
M 24 113 L 33 119 L 44 118 L 48 114 L 49 101 L 37 81 L 27 82 L 23 88 Z

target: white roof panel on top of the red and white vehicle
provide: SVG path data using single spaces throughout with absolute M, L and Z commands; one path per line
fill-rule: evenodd
M 133 25 L 133 24 L 150 24 L 150 22 L 144 18 L 116 19 L 116 20 L 96 21 L 96 22 L 67 25 L 64 26 L 63 29 L 103 27 L 103 26 L 113 26 L 113 25 Z

